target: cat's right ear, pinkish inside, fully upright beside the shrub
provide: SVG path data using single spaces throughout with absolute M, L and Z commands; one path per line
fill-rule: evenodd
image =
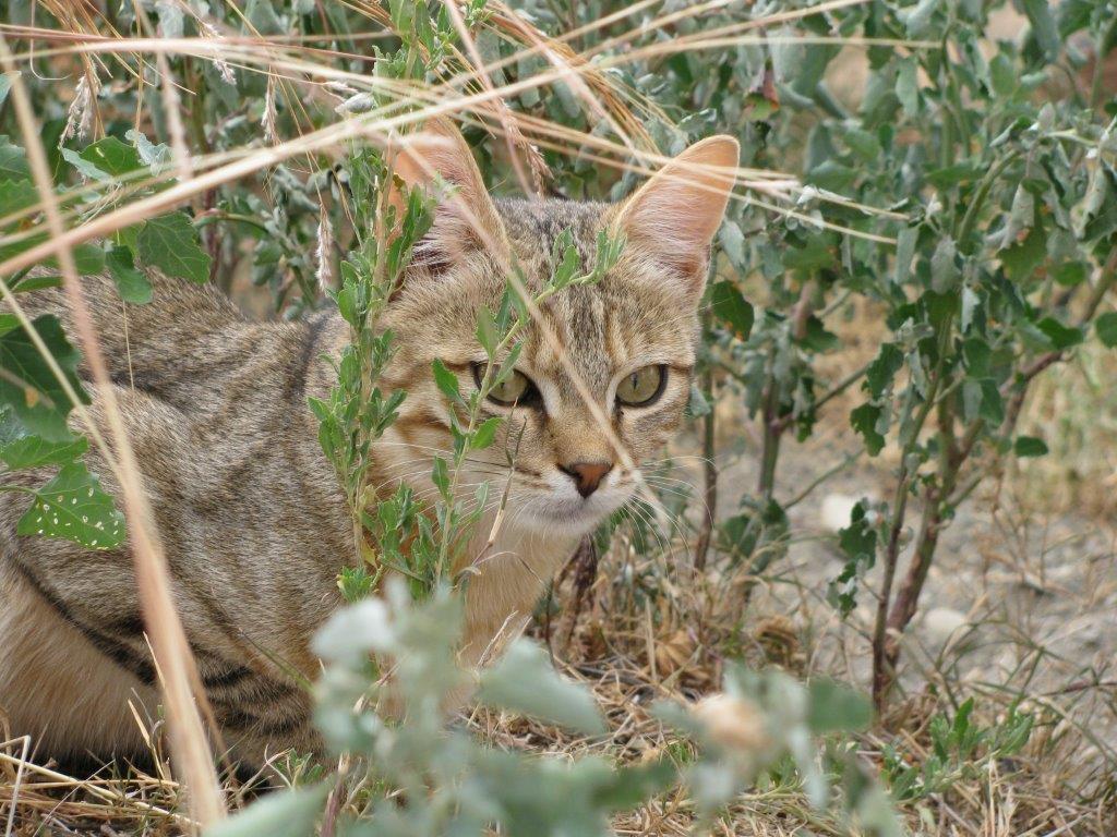
M 700 294 L 739 156 L 741 145 L 732 136 L 712 136 L 660 169 L 619 208 L 614 224 L 628 248 Z

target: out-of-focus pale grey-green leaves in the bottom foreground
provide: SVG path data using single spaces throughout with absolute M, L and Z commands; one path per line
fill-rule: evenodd
M 317 722 L 328 744 L 360 753 L 365 787 L 386 787 L 398 796 L 351 799 L 337 827 L 354 835 L 481 835 L 499 822 L 509 835 L 608 834 L 609 816 L 667 791 L 680 772 L 670 759 L 614 766 L 599 757 L 575 761 L 491 749 L 466 732 L 448 728 L 440 709 L 462 685 L 452 647 L 460 602 L 441 587 L 416 605 L 402 584 L 389 584 L 384 599 L 365 599 L 336 614 L 316 638 L 326 662 L 317 685 Z M 370 655 L 390 663 L 391 680 L 372 679 Z M 681 766 L 706 817 L 713 817 L 743 787 L 767 770 L 783 770 L 790 752 L 819 805 L 830 801 L 812 744 L 818 733 L 863 725 L 863 698 L 827 681 L 810 689 L 791 677 L 734 668 L 727 701 L 697 711 L 662 704 L 657 712 L 703 742 L 697 759 Z M 517 641 L 505 658 L 480 676 L 480 701 L 527 711 L 585 735 L 603 731 L 592 696 L 564 681 L 538 646 Z M 393 704 L 400 722 L 385 721 Z M 837 706 L 837 709 L 836 709 Z M 381 711 L 378 711 L 380 709 Z M 798 781 L 798 779 L 793 779 Z M 321 786 L 319 786 L 321 787 Z M 899 834 L 881 797 L 863 789 L 842 802 L 870 833 Z M 873 801 L 875 800 L 875 801 Z M 867 804 L 868 802 L 868 804 Z M 221 837 L 259 834 L 264 822 L 312 822 L 322 792 L 303 790 L 265 799 L 212 831 Z M 283 831 L 289 834 L 304 831 Z

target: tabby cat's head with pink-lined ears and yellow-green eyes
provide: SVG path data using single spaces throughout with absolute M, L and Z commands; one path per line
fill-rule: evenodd
M 494 200 L 456 129 L 438 124 L 428 136 L 398 155 L 395 172 L 411 186 L 437 174 L 454 192 L 389 307 L 398 354 L 385 383 L 408 397 L 381 449 L 391 463 L 383 473 L 432 497 L 432 460 L 449 460 L 451 449 L 451 404 L 432 362 L 457 375 L 462 393 L 474 391 L 486 362 L 478 312 L 499 308 L 510 266 L 536 295 L 553 275 L 553 244 L 564 230 L 584 272 L 605 229 L 626 240 L 619 261 L 600 282 L 565 288 L 538 306 L 542 323 L 523 330 L 515 374 L 483 404 L 481 419 L 506 421 L 460 477 L 462 493 L 486 480 L 493 502 L 508 491 L 508 526 L 586 532 L 632 497 L 636 470 L 679 426 L 737 142 L 696 143 L 632 196 L 607 204 Z

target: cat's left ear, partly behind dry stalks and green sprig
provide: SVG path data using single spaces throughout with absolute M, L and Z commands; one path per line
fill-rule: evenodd
M 450 122 L 429 121 L 421 133 L 408 136 L 389 154 L 392 171 L 408 189 L 430 190 L 439 179 L 452 187 L 436 208 L 430 231 L 417 244 L 414 262 L 437 270 L 479 250 L 498 259 L 506 256 L 500 215 L 465 137 Z M 402 211 L 403 195 L 394 182 L 389 199 L 397 212 Z

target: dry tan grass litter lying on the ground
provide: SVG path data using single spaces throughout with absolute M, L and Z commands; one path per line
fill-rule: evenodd
M 550 629 L 537 627 L 541 638 L 550 635 L 560 670 L 593 691 L 609 721 L 607 735 L 571 737 L 484 709 L 460 722 L 495 747 L 563 758 L 595 753 L 617 762 L 663 754 L 685 760 L 688 745 L 666 733 L 648 709 L 656 700 L 694 700 L 713 690 L 727 650 L 743 654 L 754 666 L 780 666 L 799 676 L 853 673 L 842 661 L 863 656 L 863 639 L 813 606 L 817 590 L 799 590 L 803 606 L 795 610 L 773 613 L 765 604 L 746 608 L 744 591 L 756 579 L 741 568 L 693 577 L 684 549 L 678 541 L 671 550 L 639 557 L 627 538 L 618 538 L 602 557 L 573 631 L 563 618 Z M 570 589 L 560 591 L 565 602 L 571 595 Z M 1021 638 L 1022 646 L 1027 642 Z M 927 760 L 928 723 L 949 705 L 951 684 L 944 680 L 941 685 L 945 689 L 939 696 L 922 689 L 898 702 L 878 728 L 860 738 L 861 758 L 880 764 L 885 749 L 892 747 L 913 763 Z M 1021 754 L 905 806 L 913 834 L 1111 835 L 1117 827 L 1111 808 L 1117 762 L 1099 761 L 1097 751 L 1087 752 L 1091 735 L 1082 721 L 1091 712 L 1089 690 L 1068 685 L 1071 689 L 1065 693 L 1029 699 L 1037 732 Z M 986 690 L 978 720 L 995 723 L 1016 696 L 1011 689 Z M 17 835 L 41 827 L 82 835 L 178 834 L 187 825 L 178 812 L 183 802 L 180 786 L 160 771 L 151 776 L 106 766 L 94 778 L 79 781 L 23 761 L 21 747 L 20 741 L 9 741 L 0 748 L 0 809 L 17 799 Z M 235 782 L 225 790 L 230 799 L 241 793 Z M 686 793 L 676 791 L 618 818 L 614 826 L 621 835 L 684 835 L 695 816 Z M 803 834 L 803 828 L 850 834 L 840 818 L 812 810 L 794 785 L 742 796 L 715 834 L 775 836 Z

